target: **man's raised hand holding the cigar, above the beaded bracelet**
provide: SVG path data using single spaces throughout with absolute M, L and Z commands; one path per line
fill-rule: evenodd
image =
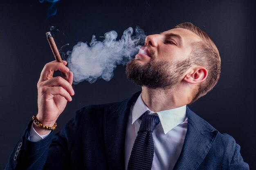
M 59 115 L 67 105 L 67 101 L 72 101 L 74 95 L 72 88 L 73 73 L 65 65 L 66 61 L 59 63 L 56 61 L 45 64 L 37 84 L 38 88 L 38 114 L 37 119 L 45 126 L 53 126 Z M 54 71 L 69 73 L 69 79 L 53 77 Z M 33 124 L 39 135 L 45 135 L 49 131 Z

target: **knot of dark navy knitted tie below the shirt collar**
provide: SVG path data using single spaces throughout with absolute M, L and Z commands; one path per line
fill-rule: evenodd
M 159 117 L 155 115 L 149 115 L 148 113 L 144 113 L 141 118 L 141 125 L 139 126 L 140 131 L 150 131 L 153 132 L 155 126 L 159 123 Z

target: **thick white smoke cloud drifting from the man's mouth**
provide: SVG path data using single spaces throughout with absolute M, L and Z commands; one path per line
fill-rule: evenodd
M 139 26 L 135 28 L 135 36 L 132 36 L 133 29 L 126 29 L 121 37 L 117 39 L 117 32 L 110 31 L 104 34 L 104 40 L 97 41 L 92 35 L 92 40 L 78 42 L 72 51 L 67 51 L 68 67 L 74 73 L 74 84 L 84 80 L 94 83 L 97 79 L 109 81 L 112 79 L 113 71 L 117 65 L 125 65 L 135 54 L 138 53 L 146 35 Z

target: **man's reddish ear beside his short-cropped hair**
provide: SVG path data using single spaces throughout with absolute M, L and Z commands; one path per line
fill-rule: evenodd
M 185 75 L 184 81 L 191 84 L 200 83 L 206 79 L 207 75 L 208 71 L 206 68 L 194 66 L 190 69 L 190 72 Z

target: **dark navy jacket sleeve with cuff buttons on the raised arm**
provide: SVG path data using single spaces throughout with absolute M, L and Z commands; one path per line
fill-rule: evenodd
M 28 140 L 31 121 L 14 147 L 4 170 L 68 169 L 70 148 L 80 124 L 81 113 L 82 109 L 77 111 L 75 117 L 54 137 L 51 132 L 37 142 Z

